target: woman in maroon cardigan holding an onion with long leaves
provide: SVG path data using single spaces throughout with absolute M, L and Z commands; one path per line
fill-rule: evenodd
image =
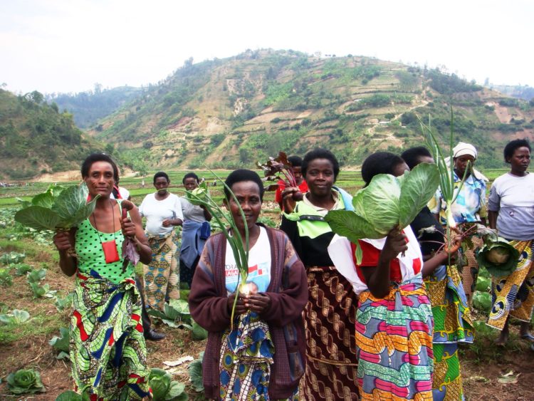
M 226 184 L 246 217 L 241 218 L 225 189 L 226 206 L 241 238 L 248 228 L 247 281 L 253 291 L 239 296 L 239 317 L 231 330 L 238 271 L 224 234 L 211 236 L 189 294 L 192 317 L 209 331 L 202 363 L 205 395 L 212 400 L 244 400 L 247 395 L 293 400 L 305 370 L 302 311 L 308 284 L 304 266 L 286 234 L 257 224 L 263 184 L 256 172 L 236 170 Z

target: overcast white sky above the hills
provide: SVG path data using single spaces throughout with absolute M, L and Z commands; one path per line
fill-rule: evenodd
M 156 83 L 247 48 L 446 66 L 534 86 L 530 0 L 0 0 L 0 83 L 26 93 Z

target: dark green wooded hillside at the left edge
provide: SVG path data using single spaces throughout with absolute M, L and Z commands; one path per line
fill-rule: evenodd
M 72 115 L 59 113 L 34 91 L 16 96 L 0 90 L 0 179 L 27 179 L 43 172 L 78 169 L 91 150 Z

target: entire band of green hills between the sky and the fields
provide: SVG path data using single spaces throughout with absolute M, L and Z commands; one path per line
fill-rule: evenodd
M 73 116 L 59 111 L 66 107 L 60 99 L 70 102 L 68 110 L 80 110 L 74 113 L 92 124 L 87 134 L 103 145 L 85 139 Z M 47 105 L 38 92 L 1 92 L 0 121 L 6 123 L 0 123 L 0 150 L 10 157 L 0 157 L 0 179 L 78 169 L 91 150 L 105 150 L 140 176 L 204 164 L 250 168 L 279 150 L 303 155 L 318 146 L 333 150 L 342 166 L 357 167 L 375 150 L 419 145 L 417 116 L 430 116 L 437 139 L 448 144 L 450 105 L 457 116 L 454 140 L 478 148 L 478 166 L 498 168 L 511 135 L 528 136 L 534 127 L 528 101 L 481 90 L 437 68 L 291 50 L 189 59 L 140 90 L 97 86 L 92 93 L 50 100 L 56 103 Z M 504 107 L 511 119 L 501 122 Z M 95 115 L 102 117 L 89 123 Z

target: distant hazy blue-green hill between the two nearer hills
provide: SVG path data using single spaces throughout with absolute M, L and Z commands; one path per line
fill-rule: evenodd
M 48 103 L 56 103 L 59 110 L 73 114 L 74 122 L 80 128 L 88 128 L 98 120 L 110 115 L 127 102 L 142 93 L 142 88 L 120 86 L 102 90 L 95 84 L 95 90 L 80 93 L 55 93 L 48 95 Z

